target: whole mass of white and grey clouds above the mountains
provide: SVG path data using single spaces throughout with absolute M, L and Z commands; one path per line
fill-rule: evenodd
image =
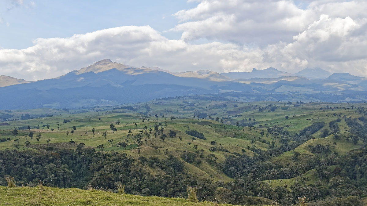
M 149 26 L 122 26 L 38 38 L 26 49 L 0 49 L 1 75 L 40 80 L 109 58 L 171 71 L 251 71 L 306 67 L 367 76 L 367 2 L 203 0 L 178 11 L 170 40 Z M 206 39 L 206 44 L 195 44 Z

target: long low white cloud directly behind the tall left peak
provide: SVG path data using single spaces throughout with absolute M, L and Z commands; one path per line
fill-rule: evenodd
M 257 65 L 261 55 L 236 44 L 192 45 L 169 40 L 149 26 L 123 26 L 69 38 L 38 38 L 26 49 L 0 49 L 2 73 L 27 80 L 61 76 L 103 58 L 171 71 L 236 69 Z M 200 66 L 200 67 L 197 67 Z

